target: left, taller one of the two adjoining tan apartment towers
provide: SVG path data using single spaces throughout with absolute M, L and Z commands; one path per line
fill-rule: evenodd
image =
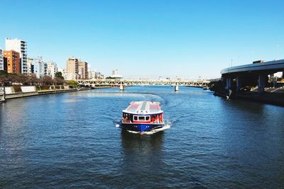
M 78 79 L 79 69 L 78 69 L 79 60 L 75 57 L 70 57 L 66 61 L 66 78 L 67 80 L 76 80 Z

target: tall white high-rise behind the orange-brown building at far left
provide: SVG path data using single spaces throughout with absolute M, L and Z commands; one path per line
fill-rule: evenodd
M 19 39 L 5 39 L 6 50 L 14 50 L 20 53 L 21 74 L 28 74 L 27 67 L 27 42 Z

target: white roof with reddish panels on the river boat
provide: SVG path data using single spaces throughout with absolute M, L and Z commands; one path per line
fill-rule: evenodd
M 158 114 L 163 113 L 163 110 L 160 110 L 160 103 L 151 102 L 151 101 L 136 101 L 131 102 L 129 107 L 126 110 L 122 110 L 124 113 L 131 114 Z

